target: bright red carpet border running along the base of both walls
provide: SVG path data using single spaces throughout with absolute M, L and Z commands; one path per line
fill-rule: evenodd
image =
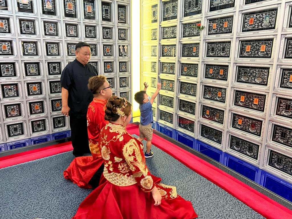
M 127 128 L 130 134 L 139 135 L 137 125 L 129 124 Z M 153 134 L 152 144 L 171 155 L 188 168 L 208 179 L 215 185 L 218 185 L 220 188 L 224 189 L 232 196 L 236 197 L 244 204 L 252 208 L 254 211 L 263 215 L 265 218 L 292 218 L 292 211 L 288 208 L 242 183 L 219 168 L 183 150 L 177 145 L 172 144 L 164 138 Z M 15 164 L 40 159 L 71 150 L 73 150 L 71 142 L 66 142 L 58 145 L 52 145 L 22 152 L 19 154 L 8 155 L 6 157 L 0 157 L 0 168 L 13 166 Z

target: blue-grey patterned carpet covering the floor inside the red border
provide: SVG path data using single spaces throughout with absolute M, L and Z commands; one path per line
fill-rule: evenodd
M 176 186 L 199 219 L 264 218 L 165 152 L 154 146 L 152 151 L 154 157 L 147 159 L 151 173 Z M 0 169 L 0 219 L 71 218 L 91 192 L 63 178 L 73 158 L 65 152 Z

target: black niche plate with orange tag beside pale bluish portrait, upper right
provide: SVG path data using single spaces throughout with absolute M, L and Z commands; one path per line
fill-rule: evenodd
M 243 14 L 242 32 L 276 28 L 278 8 Z

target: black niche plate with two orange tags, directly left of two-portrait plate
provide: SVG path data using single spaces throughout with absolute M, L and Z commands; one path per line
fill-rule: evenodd
M 206 65 L 205 78 L 227 81 L 228 78 L 228 65 Z

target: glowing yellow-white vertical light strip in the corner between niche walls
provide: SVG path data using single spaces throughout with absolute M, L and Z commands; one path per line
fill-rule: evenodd
M 132 104 L 133 117 L 140 116 L 139 104 L 134 100 L 141 90 L 141 1 L 131 0 L 131 41 L 132 41 Z

